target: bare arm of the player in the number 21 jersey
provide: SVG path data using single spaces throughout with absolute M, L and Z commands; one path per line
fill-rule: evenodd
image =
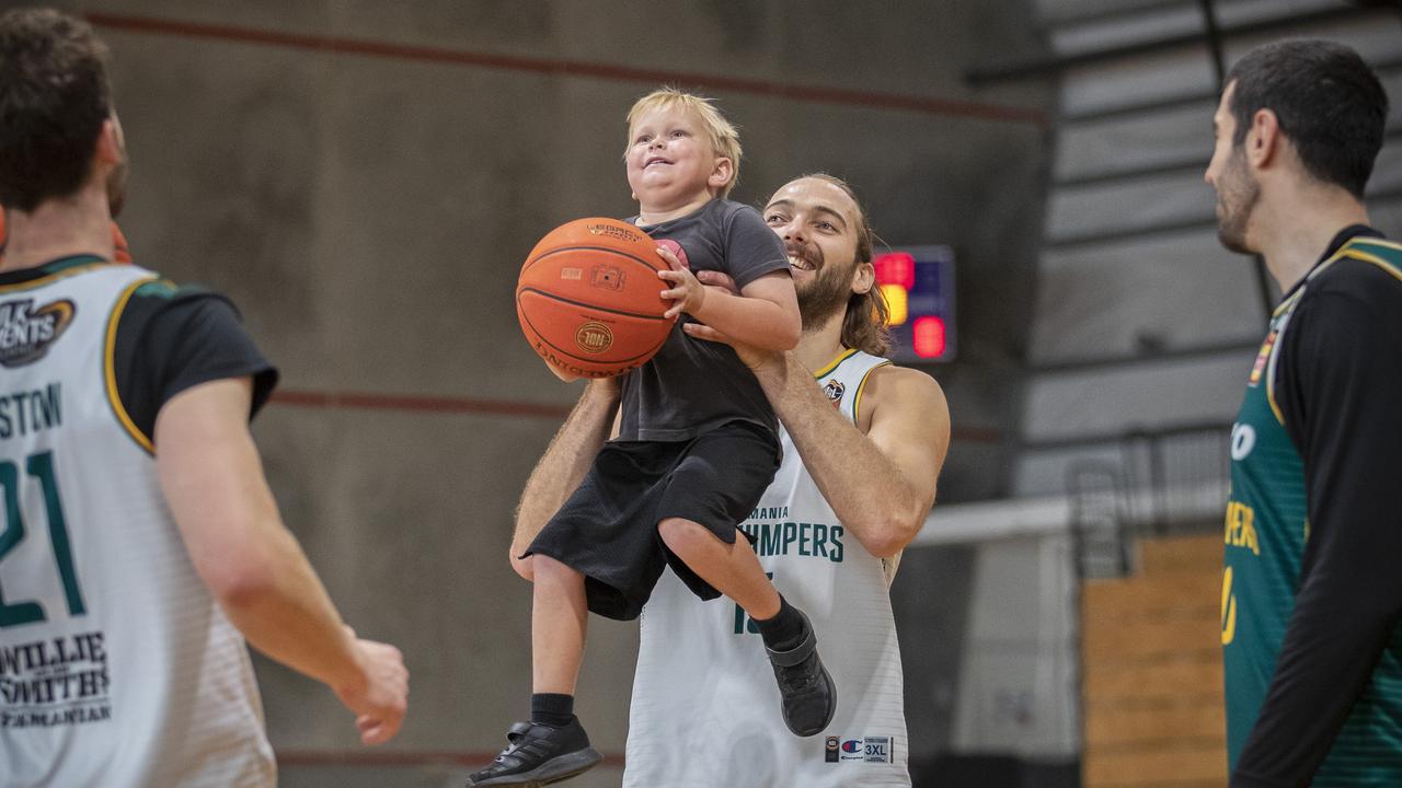
M 365 743 L 387 742 L 408 702 L 402 656 L 355 637 L 283 526 L 248 433 L 251 397 L 250 379 L 226 379 L 161 408 L 161 489 L 195 571 L 248 642 L 329 686 L 358 715 Z

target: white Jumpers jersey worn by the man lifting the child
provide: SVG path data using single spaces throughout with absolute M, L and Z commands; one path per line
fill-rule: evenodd
M 817 384 L 855 422 L 868 374 L 886 363 L 847 351 Z M 774 586 L 813 621 L 837 715 L 817 736 L 791 733 L 754 624 L 729 599 L 698 600 L 669 571 L 642 611 L 625 787 L 910 785 L 885 566 L 837 522 L 788 433 L 781 439 L 774 484 L 740 527 Z

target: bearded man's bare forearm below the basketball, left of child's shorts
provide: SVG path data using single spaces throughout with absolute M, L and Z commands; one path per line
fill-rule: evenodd
M 534 579 L 534 572 L 530 558 L 520 558 L 520 554 L 583 481 L 599 447 L 615 429 L 618 400 L 617 377 L 589 381 L 575 409 L 526 481 L 522 501 L 516 506 L 516 534 L 509 558 L 516 573 L 527 580 Z

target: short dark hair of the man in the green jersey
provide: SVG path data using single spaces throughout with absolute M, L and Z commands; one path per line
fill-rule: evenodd
M 1270 109 L 1311 175 L 1363 198 L 1382 149 L 1388 94 L 1357 52 L 1316 39 L 1269 43 L 1232 66 L 1232 144 L 1245 142 L 1259 109 Z

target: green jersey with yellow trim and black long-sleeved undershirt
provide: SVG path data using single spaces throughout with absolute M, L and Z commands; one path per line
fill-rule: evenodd
M 1232 785 L 1402 785 L 1402 245 L 1350 227 L 1287 293 L 1231 456 Z

